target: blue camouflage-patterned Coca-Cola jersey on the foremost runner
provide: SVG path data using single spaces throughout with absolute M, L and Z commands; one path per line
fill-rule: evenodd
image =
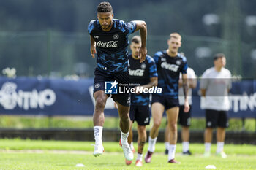
M 99 20 L 91 20 L 89 34 L 96 42 L 97 68 L 108 74 L 127 72 L 128 36 L 136 29 L 135 22 L 113 19 L 110 31 L 102 31 Z

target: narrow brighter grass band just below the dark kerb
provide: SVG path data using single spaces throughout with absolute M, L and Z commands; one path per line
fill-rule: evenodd
M 31 139 L 0 139 L 0 150 L 83 150 L 93 151 L 94 142 L 70 142 L 70 141 L 42 141 Z M 147 148 L 147 143 L 145 148 Z M 121 152 L 118 142 L 104 142 L 106 152 Z M 137 148 L 135 144 L 135 149 Z M 195 154 L 202 154 L 203 144 L 190 144 L 190 149 Z M 253 149 L 253 150 L 252 150 Z M 163 143 L 157 142 L 156 152 L 165 150 Z M 212 144 L 211 152 L 216 150 L 216 144 Z M 256 147 L 251 144 L 226 144 L 227 154 L 254 155 Z M 177 152 L 181 152 L 181 144 L 177 144 Z

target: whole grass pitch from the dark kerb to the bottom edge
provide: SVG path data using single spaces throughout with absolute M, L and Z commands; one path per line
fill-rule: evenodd
M 0 169 L 139 169 L 134 162 L 131 166 L 124 164 L 124 155 L 118 142 L 104 142 L 105 152 L 94 158 L 91 146 L 93 142 L 62 142 L 21 139 L 0 139 Z M 135 146 L 136 148 L 136 146 Z M 144 149 L 146 152 L 147 144 Z M 223 159 L 214 155 L 216 145 L 213 144 L 210 158 L 203 157 L 203 144 L 190 144 L 194 155 L 182 156 L 181 144 L 177 144 L 176 159 L 180 165 L 167 163 L 167 155 L 163 143 L 157 143 L 156 152 L 151 163 L 143 163 L 140 169 L 205 169 L 214 165 L 217 169 L 256 169 L 256 147 L 254 145 L 226 144 L 228 157 Z M 35 153 L 29 150 L 42 150 Z M 62 153 L 56 150 L 61 150 Z M 66 150 L 66 152 L 64 152 Z M 70 152 L 80 150 L 87 152 Z M 136 155 L 135 155 L 136 158 Z M 85 167 L 76 167 L 83 163 Z

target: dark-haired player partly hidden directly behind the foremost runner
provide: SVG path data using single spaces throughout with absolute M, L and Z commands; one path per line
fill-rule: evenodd
M 130 49 L 132 54 L 128 55 L 129 59 L 129 80 L 135 89 L 142 91 L 144 88 L 152 88 L 157 86 L 157 66 L 154 59 L 146 55 L 146 60 L 140 63 L 139 50 L 141 46 L 140 36 L 133 36 Z M 129 117 L 132 123 L 137 122 L 138 130 L 138 154 L 136 166 L 142 166 L 143 147 L 146 143 L 146 125 L 150 123 L 149 111 L 149 93 L 131 93 L 131 106 Z M 128 143 L 132 148 L 132 125 L 129 131 Z M 133 147 L 134 148 L 134 147 Z M 131 164 L 132 161 L 127 161 L 126 164 Z

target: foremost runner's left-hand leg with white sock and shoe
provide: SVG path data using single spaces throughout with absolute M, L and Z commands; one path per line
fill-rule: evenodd
M 94 156 L 102 155 L 104 151 L 102 145 L 102 130 L 104 124 L 104 108 L 107 101 L 108 96 L 104 93 L 104 91 L 99 90 L 94 93 L 95 99 L 95 108 L 94 108 Z

